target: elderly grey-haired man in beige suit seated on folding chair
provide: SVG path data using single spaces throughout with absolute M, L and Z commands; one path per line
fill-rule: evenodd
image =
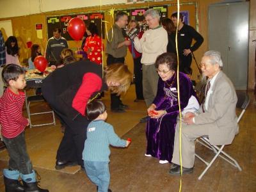
M 223 63 L 218 51 L 205 52 L 201 69 L 208 77 L 205 100 L 198 114 L 186 113 L 182 120 L 182 173 L 192 173 L 195 162 L 195 140 L 207 136 L 211 145 L 228 145 L 238 132 L 237 95 L 230 79 L 221 71 Z M 179 123 L 175 131 L 171 175 L 180 174 Z

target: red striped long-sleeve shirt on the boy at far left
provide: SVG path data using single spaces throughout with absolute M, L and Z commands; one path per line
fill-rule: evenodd
M 24 131 L 28 120 L 22 116 L 25 101 L 24 92 L 13 93 L 10 88 L 4 92 L 0 99 L 1 133 L 5 138 L 15 138 Z

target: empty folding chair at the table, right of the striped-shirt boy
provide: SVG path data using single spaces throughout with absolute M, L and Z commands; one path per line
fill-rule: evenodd
M 28 112 L 28 118 L 29 118 L 29 127 L 37 127 L 37 126 L 42 126 L 42 125 L 56 125 L 55 122 L 55 115 L 54 115 L 54 111 L 44 111 L 44 112 L 40 112 L 40 113 L 31 113 L 30 112 L 30 104 L 31 102 L 45 102 L 44 97 L 42 95 L 32 95 L 32 96 L 27 96 L 27 93 L 25 91 L 26 94 L 26 108 L 27 108 L 27 112 Z M 31 115 L 42 115 L 45 113 L 52 113 L 52 122 L 47 123 L 47 124 L 32 124 L 31 122 Z

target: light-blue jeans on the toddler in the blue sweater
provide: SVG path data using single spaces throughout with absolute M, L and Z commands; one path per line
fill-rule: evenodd
M 110 174 L 108 161 L 84 161 L 87 176 L 98 186 L 98 192 L 108 192 Z

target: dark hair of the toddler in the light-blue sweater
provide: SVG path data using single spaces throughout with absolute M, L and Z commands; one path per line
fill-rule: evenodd
M 86 106 L 86 116 L 88 120 L 95 120 L 99 115 L 106 111 L 106 106 L 100 100 L 92 100 Z

